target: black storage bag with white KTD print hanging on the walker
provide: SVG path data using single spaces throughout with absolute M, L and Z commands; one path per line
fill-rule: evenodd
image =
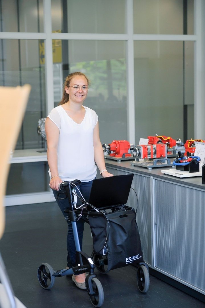
M 102 213 L 93 212 L 89 213 L 88 219 L 94 252 L 97 255 L 107 255 L 107 270 L 143 262 L 134 209 L 124 206 L 105 215 L 106 217 Z

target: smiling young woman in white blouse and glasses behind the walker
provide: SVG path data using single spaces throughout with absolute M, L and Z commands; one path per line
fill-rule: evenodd
M 47 159 L 50 187 L 56 198 L 62 181 L 80 180 L 80 192 L 89 200 L 92 181 L 96 177 L 96 165 L 103 177 L 113 176 L 105 168 L 102 144 L 99 137 L 98 116 L 83 106 L 88 94 L 88 78 L 81 72 L 68 75 L 64 83 L 63 97 L 52 109 L 45 121 Z M 95 164 L 96 163 L 96 164 Z M 68 201 L 56 199 L 64 217 Z M 71 222 L 68 223 L 67 268 L 75 265 L 76 248 Z M 84 221 L 77 221 L 78 236 L 82 249 Z M 72 280 L 80 289 L 85 288 L 85 274 L 73 275 Z

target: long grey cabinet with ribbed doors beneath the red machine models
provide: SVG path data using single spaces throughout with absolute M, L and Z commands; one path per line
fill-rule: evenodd
M 134 173 L 127 205 L 137 225 L 148 265 L 205 294 L 205 185 L 158 171 L 106 161 L 114 175 Z M 196 182 L 196 185 L 195 185 Z M 138 199 L 138 202 L 137 202 Z

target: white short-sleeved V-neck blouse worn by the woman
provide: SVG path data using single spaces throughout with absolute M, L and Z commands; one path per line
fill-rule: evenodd
M 72 120 L 61 105 L 48 115 L 59 129 L 58 172 L 63 181 L 88 182 L 96 177 L 93 129 L 98 116 L 92 109 L 83 107 L 85 116 L 80 124 Z M 51 177 L 50 169 L 48 172 Z

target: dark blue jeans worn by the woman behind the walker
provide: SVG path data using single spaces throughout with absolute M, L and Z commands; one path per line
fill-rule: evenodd
M 81 182 L 77 187 L 80 189 L 81 194 L 83 195 L 84 199 L 86 201 L 89 201 L 90 197 L 90 191 L 92 187 L 92 181 L 89 182 Z M 55 197 L 55 200 L 63 213 L 67 224 L 68 224 L 68 234 L 67 234 L 67 250 L 68 250 L 68 256 L 67 256 L 67 266 L 71 267 L 76 264 L 76 246 L 73 236 L 73 230 L 72 230 L 72 224 L 71 221 L 68 221 L 69 213 L 64 213 L 64 210 L 69 207 L 68 198 L 66 199 L 56 199 L 58 191 L 53 189 L 53 194 Z M 76 189 L 76 193 L 80 196 L 79 191 Z M 80 196 L 81 197 L 81 196 Z M 67 218 L 66 218 L 67 217 Z M 80 249 L 82 250 L 83 245 L 83 231 L 84 231 L 84 220 L 80 219 L 76 221 L 77 230 L 78 230 L 78 237 L 80 242 Z

